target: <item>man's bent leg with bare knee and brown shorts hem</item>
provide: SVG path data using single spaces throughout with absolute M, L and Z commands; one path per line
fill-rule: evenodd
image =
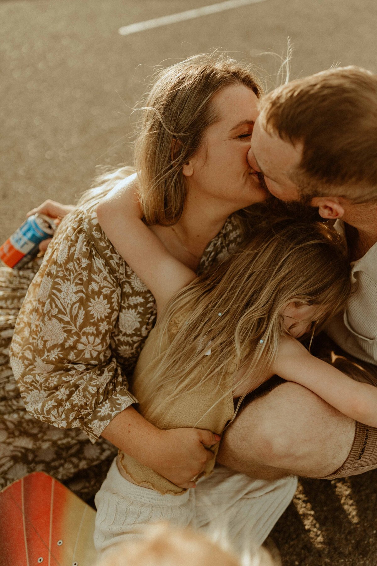
M 317 353 L 357 381 L 377 387 L 377 366 L 326 336 Z M 377 468 L 377 429 L 352 421 L 301 385 L 283 382 L 250 402 L 223 435 L 218 461 L 251 477 L 345 477 Z

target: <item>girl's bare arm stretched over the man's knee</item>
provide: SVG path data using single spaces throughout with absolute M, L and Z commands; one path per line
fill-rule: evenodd
M 294 338 L 283 338 L 272 369 L 281 378 L 311 389 L 347 417 L 377 427 L 377 387 L 359 383 L 315 358 Z

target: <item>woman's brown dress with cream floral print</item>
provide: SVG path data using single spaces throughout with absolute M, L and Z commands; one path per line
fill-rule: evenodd
M 38 470 L 89 499 L 116 454 L 101 433 L 136 401 L 127 377 L 155 301 L 99 227 L 96 204 L 64 218 L 41 265 L 0 268 L 0 488 Z M 198 273 L 240 239 L 229 217 Z

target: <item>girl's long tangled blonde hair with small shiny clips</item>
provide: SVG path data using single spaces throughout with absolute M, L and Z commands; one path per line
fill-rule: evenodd
M 236 254 L 177 293 L 162 313 L 157 324 L 171 343 L 147 397 L 164 388 L 173 399 L 187 380 L 194 389 L 209 379 L 214 387 L 228 379 L 224 397 L 233 384 L 229 367 L 235 373 L 247 363 L 242 382 L 253 383 L 274 361 L 287 333 L 281 312 L 288 303 L 318 305 L 316 331 L 345 305 L 350 268 L 335 230 L 289 217 L 259 220 Z

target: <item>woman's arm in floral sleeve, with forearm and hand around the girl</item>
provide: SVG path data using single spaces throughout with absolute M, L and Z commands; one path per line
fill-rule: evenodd
M 218 439 L 192 428 L 161 431 L 132 408 L 137 400 L 112 351 L 122 301 L 118 264 L 112 265 L 118 260 L 112 250 L 106 262 L 97 247 L 109 242 L 96 226 L 92 240 L 88 222 L 77 212 L 58 231 L 20 310 L 10 360 L 26 409 L 59 428 L 81 428 L 92 442 L 104 435 L 171 482 L 191 487 L 211 455 L 204 444 Z

